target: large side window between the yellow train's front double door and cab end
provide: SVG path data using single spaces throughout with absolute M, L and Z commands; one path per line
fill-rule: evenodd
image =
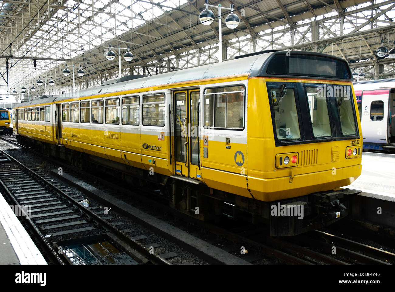
M 244 85 L 205 89 L 204 100 L 205 127 L 243 129 Z

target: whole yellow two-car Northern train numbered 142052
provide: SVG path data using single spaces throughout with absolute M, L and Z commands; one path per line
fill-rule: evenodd
M 361 174 L 350 68 L 314 52 L 124 76 L 17 104 L 14 117 L 23 144 L 156 184 L 190 216 L 247 216 L 271 235 L 346 216 L 356 191 L 333 189 Z

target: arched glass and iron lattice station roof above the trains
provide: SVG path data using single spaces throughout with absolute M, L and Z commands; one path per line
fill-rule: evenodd
M 209 0 L 212 5 L 217 2 Z M 235 5 L 240 24 L 222 19 L 224 59 L 264 49 L 318 51 L 346 59 L 372 77 L 393 76 L 394 60 L 376 50 L 394 47 L 392 0 L 224 0 Z M 121 58 L 122 76 L 156 74 L 218 62 L 218 21 L 198 20 L 204 0 L 4 0 L 0 3 L 0 85 L 8 90 L 52 78 L 53 94 L 100 85 L 118 76 L 118 58 L 107 61 L 111 44 L 121 56 L 132 47 L 131 63 Z M 216 8 L 210 8 L 217 15 Z M 225 18 L 228 10 L 223 11 Z M 11 44 L 12 45 L 9 45 Z M 81 50 L 83 49 L 83 51 Z M 12 59 L 11 59 L 12 57 Z M 36 59 L 36 68 L 34 61 Z M 36 69 L 36 70 L 35 70 Z M 37 85 L 35 85 L 37 87 Z M 48 87 L 51 88 L 51 87 Z M 54 89 L 56 88 L 56 89 Z M 7 89 L 7 86 L 0 86 Z M 44 93 L 43 86 L 36 96 Z M 1 93 L 0 93 L 1 94 Z

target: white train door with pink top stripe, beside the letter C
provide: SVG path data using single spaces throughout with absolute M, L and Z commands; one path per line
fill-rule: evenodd
M 390 89 L 362 91 L 361 125 L 363 142 L 389 143 Z

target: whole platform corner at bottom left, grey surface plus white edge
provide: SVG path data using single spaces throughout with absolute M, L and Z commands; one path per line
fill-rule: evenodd
M 0 193 L 0 264 L 46 265 L 47 262 Z

